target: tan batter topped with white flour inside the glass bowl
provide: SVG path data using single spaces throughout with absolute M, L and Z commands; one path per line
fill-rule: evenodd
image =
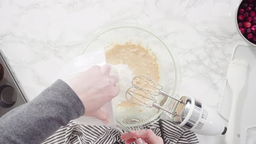
M 119 78 L 120 93 L 112 100 L 115 115 L 119 118 L 126 118 L 127 115 L 131 116 L 130 118 L 139 118 L 140 115 L 144 115 L 143 118 L 147 116 L 150 118 L 155 115 L 158 109 L 141 107 L 125 99 L 126 90 L 132 86 L 131 79 L 135 75 L 145 75 L 159 82 L 160 72 L 157 57 L 154 53 L 150 49 L 144 48 L 141 44 L 128 42 L 112 46 L 112 49 L 105 52 L 105 57 L 106 62 L 112 65 L 113 73 Z M 125 65 L 127 66 L 126 68 Z M 130 74 L 131 72 L 133 75 Z M 125 81 L 124 78 L 126 78 Z

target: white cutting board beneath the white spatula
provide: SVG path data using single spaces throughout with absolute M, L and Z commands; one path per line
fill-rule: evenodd
M 236 128 L 234 135 L 234 144 L 256 144 L 252 142 L 254 137 L 250 137 L 246 131 L 248 128 L 252 131 L 256 130 L 256 48 L 250 46 L 237 45 L 231 61 L 233 59 L 244 59 L 248 62 L 248 71 L 246 75 L 246 85 L 244 86 L 238 98 L 236 108 Z M 232 105 L 232 91 L 228 82 L 225 82 L 223 95 L 220 100 L 219 113 L 226 120 L 229 119 L 230 109 Z M 249 130 L 249 131 L 250 131 Z M 247 142 L 246 142 L 247 141 Z M 248 142 L 250 141 L 250 142 Z

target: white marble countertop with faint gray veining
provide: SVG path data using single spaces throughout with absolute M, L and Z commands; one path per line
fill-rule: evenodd
M 96 30 L 121 22 L 150 25 L 177 52 L 180 92 L 217 108 L 231 53 L 246 44 L 235 27 L 238 1 L 1 0 L 0 50 L 30 101 Z M 223 136 L 199 139 L 223 143 Z

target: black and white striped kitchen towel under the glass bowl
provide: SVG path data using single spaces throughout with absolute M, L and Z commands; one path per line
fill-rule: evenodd
M 162 127 L 162 131 L 161 128 Z M 145 129 L 151 129 L 159 137 L 164 137 L 164 144 L 197 144 L 195 133 L 177 127 L 171 121 L 161 120 Z M 89 126 L 69 122 L 61 127 L 43 144 L 125 144 L 121 140 L 121 130 L 105 126 Z

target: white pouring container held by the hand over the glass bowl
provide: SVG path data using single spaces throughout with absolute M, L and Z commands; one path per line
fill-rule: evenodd
M 104 48 L 95 49 L 93 52 L 90 52 L 86 55 L 78 56 L 75 59 L 72 59 L 66 65 L 63 65 L 62 69 L 57 72 L 54 82 L 56 81 L 56 79 L 62 79 L 64 82 L 68 82 L 69 79 L 72 79 L 72 77 L 74 77 L 75 75 L 78 75 L 79 73 L 90 69 L 93 65 L 102 66 L 105 63 L 106 60 Z M 108 103 L 103 105 L 103 108 L 109 115 L 109 123 L 106 126 L 115 127 L 115 115 L 113 113 L 112 102 L 109 101 Z M 87 116 L 81 116 L 80 118 L 72 121 L 85 125 L 105 125 L 97 118 Z

